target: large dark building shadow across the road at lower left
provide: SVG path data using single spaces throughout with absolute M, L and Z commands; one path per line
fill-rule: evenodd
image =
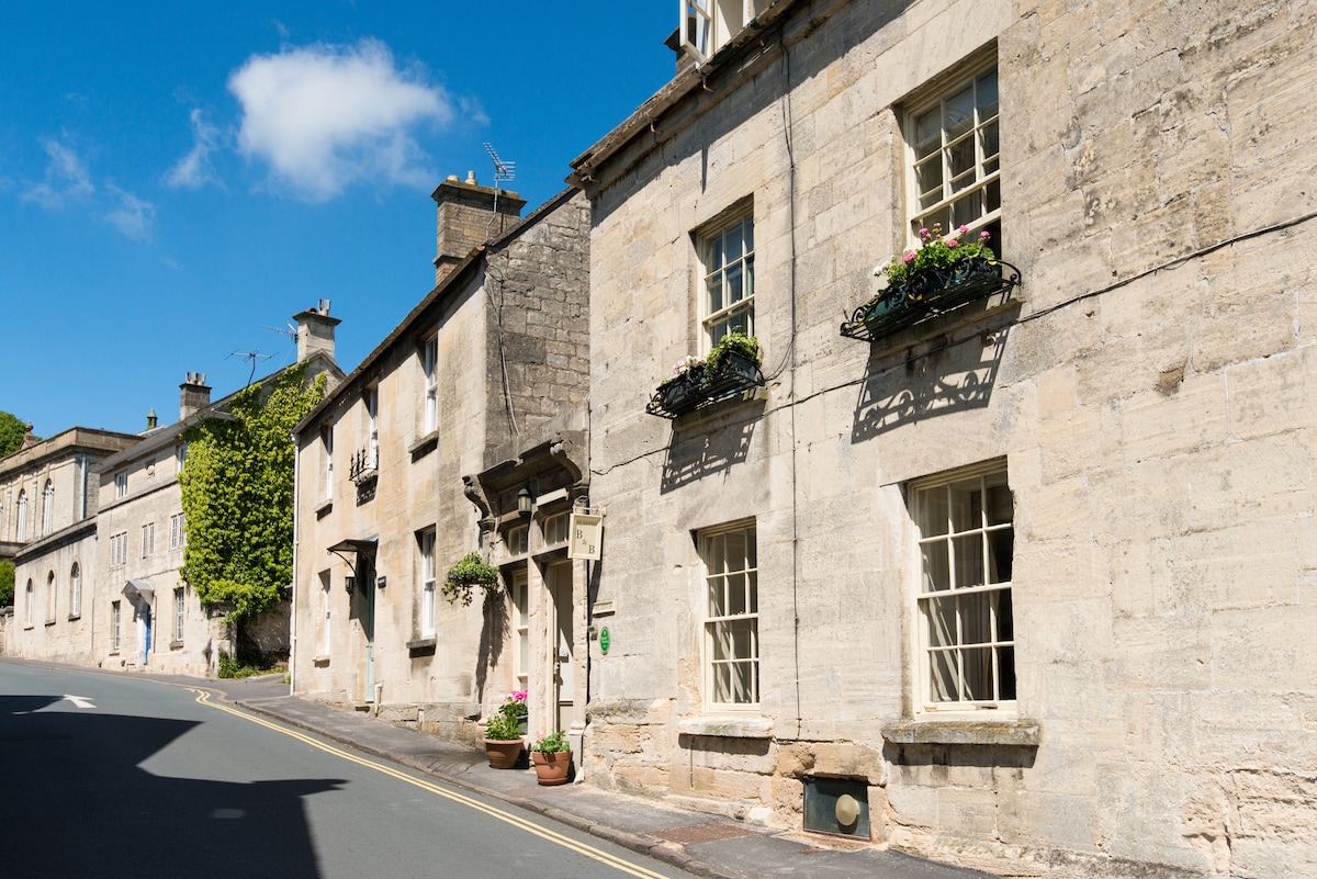
M 302 797 L 341 779 L 151 775 L 198 721 L 42 711 L 58 701 L 0 696 L 4 875 L 319 878 Z

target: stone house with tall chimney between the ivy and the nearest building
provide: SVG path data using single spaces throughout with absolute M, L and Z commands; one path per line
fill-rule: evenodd
M 579 733 L 589 209 L 568 189 L 518 221 L 456 176 L 433 197 L 436 287 L 298 428 L 294 691 L 470 740 L 528 688 L 532 732 Z M 470 551 L 499 593 L 449 604 Z

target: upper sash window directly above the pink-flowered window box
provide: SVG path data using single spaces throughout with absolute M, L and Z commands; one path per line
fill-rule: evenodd
M 960 128 L 965 117 L 956 118 L 955 101 L 968 91 L 971 116 L 968 129 Z M 940 222 L 942 233 L 950 234 L 961 225 L 976 236 L 985 226 L 996 229 L 988 243 L 993 253 L 1001 254 L 1001 104 L 996 99 L 996 62 L 961 76 L 936 95 L 913 103 L 905 112 L 906 142 L 906 191 L 909 193 L 906 216 L 910 217 L 907 241 L 911 247 L 919 245 L 919 229 L 931 229 Z M 992 100 L 989 100 L 992 99 Z M 936 120 L 930 117 L 936 114 Z M 928 132 L 919 141 L 921 121 L 936 122 L 936 138 L 930 141 Z M 954 174 L 954 163 L 964 161 L 964 147 L 973 150 L 972 166 Z M 936 184 L 931 180 L 921 192 L 921 168 L 936 168 Z M 957 188 L 956 187 L 959 183 Z M 979 200 L 977 207 L 975 201 Z M 994 207 L 990 207 L 994 205 Z

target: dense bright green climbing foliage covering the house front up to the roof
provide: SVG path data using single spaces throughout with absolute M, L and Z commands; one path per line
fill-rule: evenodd
M 292 582 L 292 428 L 324 396 L 296 367 L 240 391 L 232 420 L 205 418 L 184 434 L 179 474 L 187 546 L 180 574 L 205 607 L 234 621 L 288 595 Z

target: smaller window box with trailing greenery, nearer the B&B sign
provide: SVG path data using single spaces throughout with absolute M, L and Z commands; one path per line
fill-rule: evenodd
M 658 383 L 645 412 L 676 418 L 712 405 L 741 391 L 764 387 L 759 339 L 743 333 L 727 333 L 709 357 L 686 357 L 672 367 L 672 376 Z

